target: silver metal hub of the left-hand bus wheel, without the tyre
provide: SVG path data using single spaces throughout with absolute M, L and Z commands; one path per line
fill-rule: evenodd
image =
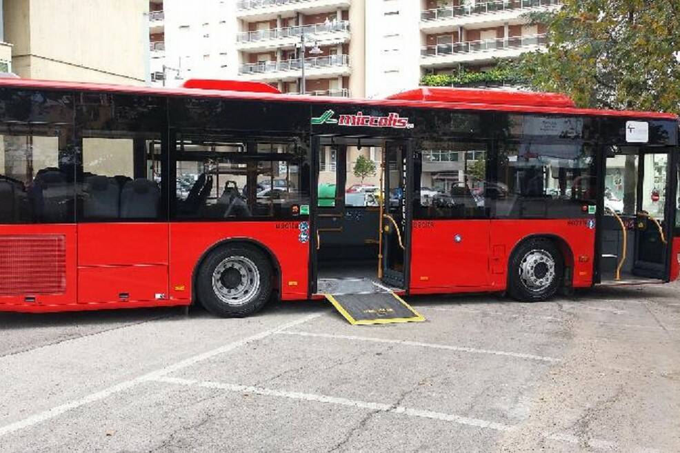
M 250 302 L 260 288 L 260 272 L 245 256 L 229 256 L 212 272 L 212 290 L 228 305 Z

